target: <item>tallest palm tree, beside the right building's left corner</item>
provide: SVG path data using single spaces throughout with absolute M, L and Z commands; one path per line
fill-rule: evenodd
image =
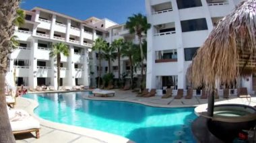
M 129 29 L 131 34 L 136 34 L 139 38 L 139 48 L 141 53 L 141 86 L 140 89 L 142 90 L 142 83 L 143 83 L 143 49 L 142 49 L 142 41 L 141 38 L 143 34 L 147 34 L 148 29 L 150 29 L 151 25 L 147 21 L 147 17 L 143 16 L 141 13 L 134 14 L 131 17 L 128 17 L 128 21 L 125 24 L 125 27 Z

